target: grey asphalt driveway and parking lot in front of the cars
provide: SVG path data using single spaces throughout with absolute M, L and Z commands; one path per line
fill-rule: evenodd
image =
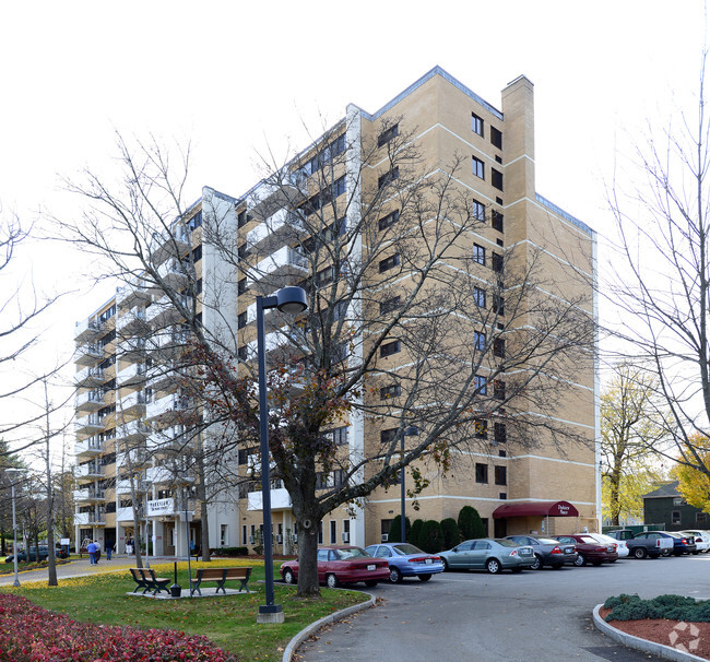
M 443 572 L 368 592 L 381 599 L 374 608 L 321 630 L 297 660 L 648 662 L 656 658 L 596 630 L 592 610 L 619 593 L 710 599 L 710 554 L 520 575 Z

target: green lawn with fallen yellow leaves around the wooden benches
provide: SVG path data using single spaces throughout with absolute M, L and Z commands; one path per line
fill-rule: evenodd
M 283 657 L 288 641 L 309 624 L 334 611 L 363 602 L 357 591 L 321 589 L 320 599 L 297 599 L 296 587 L 275 584 L 275 601 L 284 611 L 285 620 L 279 625 L 257 624 L 259 605 L 265 604 L 263 561 L 216 559 L 193 561 L 199 567 L 251 566 L 249 595 L 227 595 L 208 599 L 147 600 L 126 595 L 135 587 L 127 569 L 72 579 L 60 579 L 59 587 L 47 582 L 24 582 L 21 588 L 3 591 L 24 595 L 34 603 L 55 612 L 63 612 L 76 620 L 105 625 L 127 625 L 140 628 L 177 629 L 204 635 L 217 646 L 235 653 L 240 662 L 276 662 Z M 130 566 L 125 566 L 126 568 Z M 173 564 L 151 565 L 159 577 L 173 577 Z M 274 568 L 274 577 L 279 577 Z M 187 561 L 178 563 L 178 583 L 186 593 Z M 205 584 L 206 591 L 213 591 Z M 229 586 L 229 584 L 228 584 Z M 238 583 L 232 582 L 233 588 Z M 202 592 L 205 593 L 204 587 Z

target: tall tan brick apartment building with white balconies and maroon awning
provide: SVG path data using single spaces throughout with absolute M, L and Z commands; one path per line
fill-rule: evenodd
M 197 222 L 192 222 L 190 237 L 180 238 L 184 246 L 176 246 L 175 237 L 166 236 L 163 239 L 170 247 L 156 248 L 154 255 L 158 261 L 164 258 L 161 263 L 167 270 L 166 275 L 177 279 L 179 273 L 168 273 L 170 261 L 184 257 L 188 250 L 194 256 L 200 247 L 201 260 L 191 263 L 203 279 L 204 274 L 214 273 L 213 291 L 220 292 L 218 302 L 215 299 L 211 305 L 205 302 L 204 287 L 197 295 L 202 323 L 205 328 L 222 327 L 234 333 L 237 357 L 250 362 L 256 352 L 257 294 L 270 294 L 281 286 L 295 284 L 312 293 L 313 288 L 336 288 L 339 280 L 348 277 L 347 270 L 334 268 L 328 257 L 313 257 L 315 244 L 322 239 L 322 234 L 331 240 L 347 237 L 351 264 L 364 263 L 374 246 L 379 246 L 382 259 L 378 258 L 363 272 L 368 283 L 363 288 L 365 296 L 356 297 L 343 308 L 334 306 L 329 318 L 331 323 L 333 318 L 347 320 L 348 316 L 363 320 L 359 331 L 334 350 L 336 358 L 356 365 L 367 353 L 377 324 L 387 321 L 387 316 L 399 305 L 395 299 L 412 291 L 411 279 L 402 271 L 403 263 L 409 260 L 416 267 L 416 260 L 423 259 L 425 249 L 431 246 L 430 225 L 421 224 L 415 228 L 424 228 L 421 239 L 416 243 L 407 239 L 407 251 L 387 252 L 388 246 L 394 246 L 398 237 L 411 234 L 414 227 L 406 226 L 406 215 L 401 213 L 395 197 L 381 202 L 377 198 L 377 191 L 394 180 L 407 181 L 404 173 L 407 158 L 398 161 L 407 154 L 407 145 L 416 145 L 409 154 L 416 152 L 416 165 L 422 172 L 450 174 L 451 164 L 457 164 L 455 176 L 447 181 L 454 187 L 457 198 L 465 200 L 469 221 L 475 222 L 475 228 L 462 234 L 441 261 L 449 271 L 457 272 L 457 277 L 463 279 L 461 283 L 472 281 L 470 292 L 474 304 L 494 314 L 481 318 L 483 322 L 462 327 L 461 341 L 473 348 L 490 343 L 490 358 L 486 359 L 490 365 L 482 367 L 480 391 L 485 395 L 487 388 L 490 398 L 505 400 L 505 379 L 486 377 L 486 371 L 494 374 L 492 362 L 502 360 L 506 352 L 505 341 L 493 338 L 499 329 L 534 324 L 530 314 L 513 316 L 509 300 L 506 314 L 502 298 L 494 294 L 492 286 L 504 264 L 510 273 L 516 269 L 524 271 L 534 263 L 535 272 L 543 274 L 536 291 L 544 289 L 551 300 L 579 308 L 590 319 L 596 315 L 592 291 L 594 233 L 535 189 L 533 85 L 524 76 L 505 87 L 500 109 L 438 67 L 375 113 L 351 105 L 341 122 L 277 173 L 279 178 L 267 178 L 235 199 L 216 198 L 220 214 L 234 216 L 229 240 L 236 260 L 229 264 L 221 260 L 220 252 L 202 241 Z M 435 182 L 427 193 L 430 199 L 440 190 L 441 179 L 428 179 Z M 400 200 L 406 190 L 412 189 L 400 187 Z M 205 189 L 205 196 L 211 197 L 209 205 L 214 209 L 214 192 Z M 304 220 L 341 197 L 356 200 L 357 204 L 344 204 L 342 215 L 323 214 L 319 239 Z M 419 206 L 422 200 L 427 198 L 417 200 Z M 357 236 L 352 230 L 348 234 L 348 228 L 359 227 L 363 210 L 375 202 L 380 205 L 377 208 L 380 212 L 371 227 L 363 226 Z M 193 217 L 203 209 L 208 209 L 205 200 L 193 208 Z M 176 230 L 184 227 L 182 223 Z M 387 233 L 389 238 L 384 236 Z M 204 261 L 208 252 L 212 256 L 210 264 Z M 392 275 L 398 269 L 401 277 Z M 177 271 L 185 275 L 185 269 Z M 234 284 L 227 294 L 225 283 Z M 400 287 L 398 296 L 387 298 L 382 294 L 386 284 Z M 372 293 L 371 297 L 368 292 Z M 129 501 L 141 498 L 147 504 L 155 549 L 170 554 L 179 553 L 180 544 L 188 544 L 187 535 L 180 539 L 181 527 L 186 525 L 185 518 L 180 520 L 180 511 L 185 510 L 180 498 L 188 499 L 188 511 L 194 510 L 189 499 L 196 496 L 196 485 L 190 480 L 199 482 L 199 476 L 180 484 L 175 478 L 179 471 L 168 471 L 167 476 L 161 477 L 156 464 L 161 463 L 161 449 L 169 450 L 175 439 L 185 434 L 184 429 L 171 426 L 175 421 L 186 421 L 185 416 L 171 418 L 171 412 L 194 407 L 199 415 L 200 402 L 187 402 L 188 394 L 180 394 L 179 380 L 175 379 L 173 365 L 166 358 L 170 352 L 179 353 L 186 336 L 181 334 L 180 316 L 174 310 L 174 303 L 162 298 L 159 289 L 151 289 L 150 284 L 129 284 L 119 289 L 116 299 L 76 328 L 75 340 L 81 347 L 76 362 L 82 368 L 78 373 L 76 449 L 81 464 L 76 470 L 76 527 L 78 540 L 90 531 L 94 536 L 98 533 L 100 539 L 104 531 L 105 535 L 116 535 L 120 548 L 120 541 L 133 534 L 132 517 L 129 517 L 133 508 Z M 284 348 L 287 336 L 280 332 L 276 317 L 272 318 L 267 351 L 275 364 L 288 358 Z M 114 330 L 117 335 L 113 335 Z M 142 363 L 145 354 L 141 352 L 145 351 L 146 343 L 153 352 L 152 365 Z M 512 344 L 508 345 L 509 353 Z M 90 345 L 100 351 L 92 354 Z M 417 359 L 413 347 L 403 338 L 392 338 L 379 347 L 380 375 L 372 377 L 371 383 L 363 385 L 360 410 L 343 416 L 328 433 L 339 447 L 342 468 L 336 465 L 323 472 L 319 477 L 321 489 L 328 490 L 344 480 L 348 458 L 376 457 L 378 449 L 394 440 L 397 433 L 395 426 L 388 422 L 390 414 L 378 415 L 377 407 L 383 406 L 382 403 L 388 406 L 390 402 L 399 403 L 403 398 L 404 385 L 411 380 L 411 366 Z M 298 367 L 298 360 L 294 359 L 289 369 Z M 555 376 L 557 383 L 564 382 L 564 394 L 555 403 L 554 418 L 570 430 L 568 444 L 544 426 L 523 439 L 513 433 L 509 412 L 508 418 L 502 407 L 496 409 L 496 415 L 486 415 L 482 404 L 481 418 L 476 419 L 472 435 L 476 444 L 455 450 L 448 471 L 431 461 L 417 465 L 423 487 L 417 495 L 406 496 L 406 516 L 411 520 L 455 518 L 463 506 L 471 505 L 481 513 L 490 535 L 530 531 L 567 533 L 584 525 L 599 530 L 601 484 L 595 370 L 589 357 L 577 365 L 568 363 L 565 369 L 564 375 Z M 83 374 L 96 370 L 103 371 L 103 381 L 85 381 L 88 377 L 84 378 Z M 508 382 L 509 391 L 512 383 L 513 378 Z M 526 415 L 548 417 L 547 410 L 535 411 L 533 400 L 526 405 Z M 87 426 L 90 421 L 95 423 L 94 428 Z M 415 442 L 419 434 L 422 430 L 416 425 L 400 426 L 403 445 Z M 129 447 L 127 440 L 138 442 Z M 196 442 L 204 444 L 204 440 Z M 141 456 L 143 449 L 146 453 Z M 143 466 L 143 462 L 151 466 Z M 224 501 L 217 499 L 211 506 L 214 511 L 210 516 L 214 517 L 214 524 L 210 521 L 211 546 L 239 544 L 253 549 L 259 545 L 263 517 L 259 465 L 258 449 L 241 446 L 234 458 L 238 476 L 234 500 L 225 497 Z M 103 473 L 96 473 L 99 468 Z M 126 482 L 127 473 L 138 476 L 142 490 L 139 496 L 135 487 Z M 365 480 L 370 473 L 365 463 L 350 480 Z M 412 471 L 407 470 L 405 485 L 413 483 Z M 275 552 L 292 553 L 297 537 L 291 498 L 277 480 L 272 482 L 272 487 Z M 184 496 L 178 498 L 178 493 Z M 141 494 L 149 498 L 140 497 Z M 326 544 L 347 541 L 363 546 L 378 542 L 387 535 L 393 517 L 400 513 L 400 504 L 401 485 L 393 477 L 367 499 L 329 513 L 321 523 L 319 539 Z M 114 507 L 116 512 L 108 512 Z M 189 525 L 190 536 L 197 535 L 199 522 L 193 520 Z

